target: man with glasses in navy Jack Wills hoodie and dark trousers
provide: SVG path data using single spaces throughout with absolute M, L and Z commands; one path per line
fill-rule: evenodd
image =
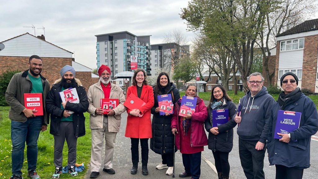
M 241 99 L 241 111 L 234 117 L 239 123 L 239 156 L 247 179 L 265 179 L 263 171 L 269 130 L 270 111 L 275 103 L 263 86 L 264 78 L 258 73 L 247 77 L 249 91 Z M 240 113 L 240 114 L 239 114 Z

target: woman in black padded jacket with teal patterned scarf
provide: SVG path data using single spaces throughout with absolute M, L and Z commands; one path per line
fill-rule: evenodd
M 236 114 L 236 106 L 227 95 L 222 85 L 212 88 L 208 118 L 204 121 L 205 129 L 209 132 L 208 148 L 212 150 L 215 167 L 219 179 L 228 179 L 230 174 L 229 153 L 233 147 L 233 127 L 236 122 L 232 117 Z M 228 109 L 230 120 L 218 127 L 212 127 L 212 110 Z

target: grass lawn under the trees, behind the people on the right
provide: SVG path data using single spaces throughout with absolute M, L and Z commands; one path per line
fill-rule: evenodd
M 239 98 L 244 96 L 244 92 L 243 91 L 238 91 L 238 95 L 234 95 L 234 91 L 229 90 L 227 91 L 229 97 L 232 98 L 233 102 L 235 104 L 239 103 Z M 183 96 L 185 94 L 184 91 L 180 91 L 180 96 Z M 278 99 L 278 94 L 272 94 L 273 98 L 275 99 L 275 101 L 277 101 Z M 208 100 L 210 101 L 211 98 L 211 92 L 199 92 L 199 97 L 204 99 L 204 100 Z M 311 100 L 313 100 L 313 102 L 316 105 L 316 108 L 318 108 L 318 95 L 309 95 L 308 96 Z M 1 109 L 1 108 L 0 108 Z

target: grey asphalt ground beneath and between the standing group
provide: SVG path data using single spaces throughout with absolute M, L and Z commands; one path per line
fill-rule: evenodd
M 208 102 L 205 101 L 207 104 Z M 113 179 L 123 179 L 123 178 L 151 178 L 151 179 L 163 179 L 163 178 L 172 178 L 170 175 L 165 175 L 166 169 L 157 170 L 155 167 L 161 163 L 161 156 L 159 154 L 155 154 L 149 148 L 149 163 L 148 170 L 149 175 L 144 176 L 141 173 L 141 162 L 138 166 L 138 172 L 136 175 L 130 174 L 130 169 L 132 166 L 131 163 L 131 152 L 130 152 L 130 139 L 125 137 L 125 128 L 126 128 L 126 120 L 127 113 L 124 112 L 122 114 L 121 119 L 121 127 L 120 132 L 118 132 L 116 137 L 116 146 L 114 151 L 114 161 L 113 168 L 116 171 L 116 174 L 109 175 L 106 172 L 100 171 L 100 176 L 98 178 L 113 178 Z M 233 149 L 229 154 L 229 163 L 231 166 L 230 170 L 230 178 L 231 179 L 244 179 L 246 178 L 241 167 L 240 159 L 239 159 L 239 137 L 236 133 L 237 127 L 234 128 L 234 138 L 233 138 Z M 315 134 L 318 136 L 318 133 Z M 304 170 L 303 178 L 318 178 L 318 137 L 314 138 L 315 140 L 311 140 L 311 158 L 310 163 L 311 167 Z M 149 140 L 150 142 L 150 140 Z M 103 151 L 104 152 L 104 151 Z M 141 153 L 141 149 L 139 149 Z M 296 156 L 295 156 L 296 157 Z M 141 161 L 141 154 L 139 156 Z M 103 160 L 102 160 L 103 161 Z M 214 158 L 211 150 L 208 149 L 207 146 L 204 147 L 204 151 L 202 152 L 201 157 L 201 179 L 217 179 L 216 170 L 214 167 Z M 176 152 L 176 163 L 175 163 L 175 177 L 180 178 L 178 175 L 184 171 L 182 164 L 182 156 L 179 151 Z M 265 154 L 264 159 L 264 172 L 266 179 L 274 179 L 275 178 L 275 166 L 269 166 L 267 152 Z M 86 178 L 89 178 L 90 175 L 89 164 L 87 168 Z M 190 178 L 190 177 L 189 177 Z

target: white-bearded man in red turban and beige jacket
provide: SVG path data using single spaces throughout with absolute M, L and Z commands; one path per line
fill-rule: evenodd
M 87 111 L 90 113 L 89 127 L 92 134 L 91 178 L 96 178 L 99 175 L 104 137 L 106 151 L 103 171 L 108 174 L 115 174 L 112 163 L 115 138 L 117 132 L 119 132 L 121 113 L 126 111 L 126 107 L 123 105 L 125 96 L 122 89 L 110 82 L 110 73 L 109 67 L 101 65 L 98 69 L 100 81 L 90 86 L 87 93 L 89 102 Z M 104 115 L 104 110 L 100 106 L 100 99 L 102 98 L 119 99 L 119 104 Z

